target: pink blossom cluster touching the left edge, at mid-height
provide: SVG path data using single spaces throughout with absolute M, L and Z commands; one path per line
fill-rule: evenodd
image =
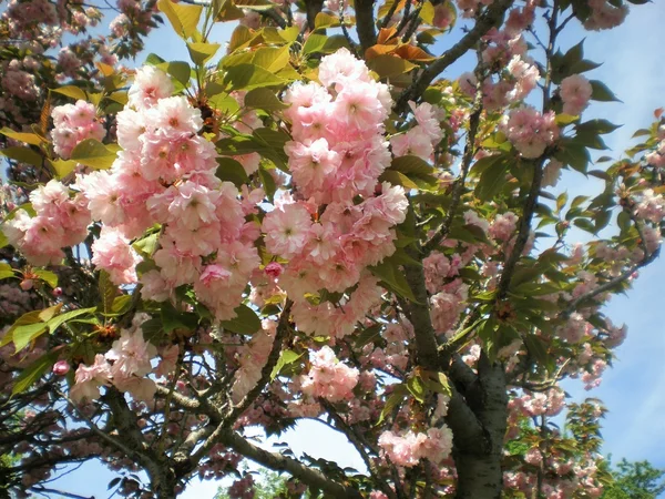
M 70 195 L 61 182 L 51 180 L 30 193 L 35 215 L 25 210 L 6 221 L 2 232 L 9 243 L 33 265 L 58 264 L 63 247 L 74 246 L 88 236 L 90 211 L 81 194 Z

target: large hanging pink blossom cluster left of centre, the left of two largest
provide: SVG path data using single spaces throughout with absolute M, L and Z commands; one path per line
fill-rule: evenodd
M 177 286 L 192 285 L 224 320 L 235 317 L 258 267 L 258 231 L 245 226 L 237 189 L 215 176 L 214 144 L 197 135 L 201 112 L 172 92 L 164 72 L 139 70 L 127 106 L 117 114 L 123 151 L 110 171 L 78 179 L 92 217 L 103 223 L 93 262 L 116 284 L 135 282 L 137 256 L 130 240 L 161 224 L 157 269 L 142 275 L 142 296 L 163 302 Z

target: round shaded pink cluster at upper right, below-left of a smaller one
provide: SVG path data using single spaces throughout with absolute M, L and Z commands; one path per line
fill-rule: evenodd
M 522 106 L 503 116 L 499 128 L 522 156 L 535 159 L 559 139 L 555 118 L 553 111 L 541 114 L 533 108 Z

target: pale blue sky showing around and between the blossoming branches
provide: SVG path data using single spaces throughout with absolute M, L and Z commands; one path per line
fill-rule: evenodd
M 607 138 L 611 155 L 617 156 L 631 143 L 631 135 L 638 128 L 651 124 L 653 111 L 665 105 L 665 65 L 662 62 L 661 33 L 665 26 L 665 3 L 633 7 L 626 22 L 611 31 L 585 33 L 570 24 L 561 43 L 567 48 L 586 37 L 585 58 L 603 65 L 590 78 L 603 80 L 623 103 L 594 105 L 585 118 L 605 118 L 624 126 Z M 221 27 L 213 40 L 225 42 L 231 30 Z M 447 43 L 444 41 L 443 43 Z M 153 33 L 146 43 L 145 54 L 154 52 L 167 60 L 188 60 L 182 41 L 168 28 Z M 137 58 L 142 62 L 145 55 Z M 446 74 L 454 78 L 469 69 L 471 61 L 462 60 Z M 589 190 L 581 176 L 566 181 L 571 195 Z M 663 279 L 663 281 L 661 281 Z M 665 468 L 665 324 L 659 317 L 665 305 L 663 282 L 665 261 L 657 259 L 642 272 L 627 296 L 615 297 L 605 313 L 615 324 L 625 323 L 628 336 L 617 350 L 614 367 L 607 369 L 600 388 L 585 391 L 579 381 L 565 384 L 573 400 L 586 396 L 598 397 L 610 409 L 603 422 L 605 445 L 603 452 L 612 454 L 614 460 L 648 459 Z M 256 431 L 258 434 L 258 431 Z M 323 424 L 303 421 L 294 430 L 279 438 L 287 441 L 296 454 L 303 451 L 342 466 L 362 468 L 355 450 Z M 114 477 L 96 464 L 59 480 L 54 486 L 81 495 L 108 496 L 106 483 Z M 218 483 L 195 480 L 182 496 L 185 499 L 212 498 Z

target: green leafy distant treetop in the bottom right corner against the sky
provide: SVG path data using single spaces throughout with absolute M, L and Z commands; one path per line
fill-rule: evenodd
M 655 499 L 665 492 L 665 470 L 648 461 L 622 459 L 612 475 L 614 482 L 605 488 L 602 499 Z

